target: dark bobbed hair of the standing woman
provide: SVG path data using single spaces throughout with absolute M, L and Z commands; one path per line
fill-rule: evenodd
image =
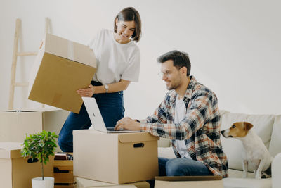
M 117 25 L 115 23 L 116 18 L 118 19 L 118 21 L 124 21 L 124 22 L 135 21 L 136 28 L 131 37 L 136 42 L 138 42 L 141 39 L 141 16 L 135 8 L 127 7 L 117 14 L 114 20 L 115 33 L 117 32 Z

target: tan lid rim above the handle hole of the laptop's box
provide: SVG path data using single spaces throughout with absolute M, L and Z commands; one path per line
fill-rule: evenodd
M 121 133 L 118 134 L 119 142 L 145 142 L 158 140 L 159 137 L 154 137 L 148 132 L 132 132 L 132 133 Z

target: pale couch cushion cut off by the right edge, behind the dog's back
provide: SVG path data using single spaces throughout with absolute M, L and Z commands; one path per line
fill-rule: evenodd
M 269 144 L 269 152 L 271 156 L 276 156 L 277 153 L 281 152 L 281 115 L 275 117 L 273 132 L 271 135 L 271 141 Z

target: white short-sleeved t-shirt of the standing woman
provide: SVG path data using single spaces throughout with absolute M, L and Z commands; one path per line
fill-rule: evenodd
M 114 39 L 113 31 L 100 30 L 89 42 L 96 55 L 96 74 L 93 80 L 112 84 L 122 80 L 138 82 L 141 66 L 141 51 L 135 42 L 120 44 Z

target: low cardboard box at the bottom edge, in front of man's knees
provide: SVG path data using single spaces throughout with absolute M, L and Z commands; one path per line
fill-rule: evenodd
M 159 176 L 155 177 L 155 188 L 223 188 L 221 176 Z

